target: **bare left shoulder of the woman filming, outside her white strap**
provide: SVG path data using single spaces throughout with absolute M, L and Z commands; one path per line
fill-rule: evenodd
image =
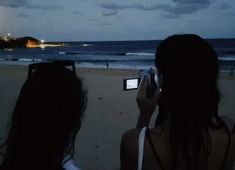
M 137 169 L 138 138 L 140 129 L 126 131 L 122 136 L 120 158 L 122 170 Z

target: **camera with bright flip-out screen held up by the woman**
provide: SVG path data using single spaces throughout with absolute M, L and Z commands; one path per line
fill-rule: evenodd
M 149 70 L 140 70 L 138 78 L 129 78 L 123 80 L 123 90 L 138 89 L 139 83 L 142 78 L 147 79 L 147 98 L 153 98 L 156 88 L 158 87 L 158 77 L 156 70 L 150 67 Z

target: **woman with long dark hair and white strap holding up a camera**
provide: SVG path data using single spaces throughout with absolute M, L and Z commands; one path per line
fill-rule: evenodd
M 232 170 L 234 124 L 218 114 L 214 49 L 197 35 L 174 35 L 160 43 L 155 57 L 159 85 L 147 98 L 149 80 L 142 79 L 137 128 L 122 138 L 122 169 Z M 155 127 L 146 128 L 156 105 Z

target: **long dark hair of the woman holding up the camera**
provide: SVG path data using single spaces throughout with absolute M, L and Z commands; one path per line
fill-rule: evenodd
M 186 161 L 188 170 L 208 169 L 212 148 L 208 129 L 224 128 L 230 141 L 229 130 L 218 115 L 217 54 L 206 40 L 185 34 L 162 41 L 155 57 L 162 81 L 156 126 L 170 122 L 172 170 L 179 159 Z M 226 156 L 221 169 L 225 160 Z

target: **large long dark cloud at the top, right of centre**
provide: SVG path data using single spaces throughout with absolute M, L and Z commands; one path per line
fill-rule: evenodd
M 125 10 L 125 9 L 136 9 L 142 11 L 164 11 L 173 15 L 182 15 L 182 14 L 192 14 L 201 9 L 208 8 L 210 3 L 208 0 L 172 0 L 173 3 L 169 4 L 151 4 L 151 5 L 143 5 L 141 3 L 138 4 L 129 4 L 129 5 L 118 5 L 115 3 L 106 3 L 101 4 L 101 8 L 105 10 Z M 178 16 L 177 16 L 178 17 Z

